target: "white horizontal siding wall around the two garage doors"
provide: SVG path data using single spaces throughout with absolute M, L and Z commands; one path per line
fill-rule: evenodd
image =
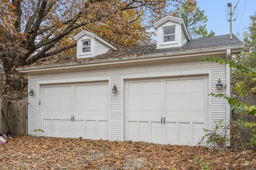
M 30 76 L 30 88 L 33 88 L 35 91 L 34 96 L 30 96 L 30 109 L 29 109 L 29 127 L 28 133 L 31 135 L 36 135 L 34 133 L 34 129 L 38 129 L 38 81 L 43 80 L 66 80 L 67 82 L 71 78 L 86 78 L 86 77 L 100 77 L 100 76 L 110 76 L 110 82 L 112 89 L 113 85 L 116 84 L 118 86 L 118 92 L 113 94 L 111 92 L 111 103 L 110 103 L 110 140 L 123 140 L 123 113 L 121 108 L 122 98 L 122 82 L 121 77 L 125 75 L 136 75 L 136 74 L 166 74 L 168 72 L 175 72 L 177 75 L 182 76 L 182 73 L 179 71 L 190 72 L 190 70 L 200 70 L 208 69 L 212 70 L 211 77 L 212 84 L 209 88 L 209 93 L 220 93 L 226 94 L 226 88 L 223 88 L 222 91 L 216 91 L 216 82 L 218 79 L 226 84 L 226 66 L 224 64 L 216 64 L 212 62 L 191 62 L 191 63 L 158 63 L 158 64 L 142 64 L 140 66 L 121 66 L 114 67 L 111 66 L 109 68 L 97 68 L 95 70 L 84 70 L 83 72 L 65 72 L 65 73 L 52 73 L 52 74 L 44 74 L 44 75 L 31 75 Z M 209 121 L 214 125 L 214 120 L 218 119 L 226 119 L 226 100 L 214 98 L 212 97 L 212 104 L 209 103 Z M 209 124 L 210 124 L 209 122 Z M 42 129 L 43 130 L 43 129 Z

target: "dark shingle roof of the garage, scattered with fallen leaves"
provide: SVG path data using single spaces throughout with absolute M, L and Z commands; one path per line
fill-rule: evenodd
M 89 61 L 89 60 L 149 55 L 149 54 L 157 54 L 157 53 L 170 53 L 170 52 L 178 52 L 178 51 L 208 49 L 208 48 L 214 48 L 214 47 L 226 47 L 226 46 L 243 45 L 243 44 L 244 43 L 242 43 L 242 41 L 240 41 L 240 39 L 238 39 L 234 34 L 232 34 L 232 40 L 230 40 L 230 34 L 226 34 L 226 35 L 219 35 L 214 37 L 192 39 L 191 41 L 184 44 L 182 47 L 156 49 L 156 44 L 141 45 L 136 47 L 120 48 L 118 50 L 110 50 L 107 53 L 104 53 L 102 55 L 98 55 L 92 58 L 76 59 L 76 55 L 70 55 L 69 57 L 58 58 L 55 61 L 51 59 L 50 62 L 47 61 L 46 63 L 44 63 L 44 61 L 41 61 L 40 63 L 34 63 L 32 65 L 36 66 L 41 64 L 81 62 L 81 61 Z

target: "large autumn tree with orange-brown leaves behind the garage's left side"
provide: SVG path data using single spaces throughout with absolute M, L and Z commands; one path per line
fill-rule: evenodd
M 72 37 L 82 29 L 116 47 L 148 43 L 152 23 L 184 2 L 194 0 L 1 0 L 2 97 L 22 97 L 27 79 L 15 68 L 71 53 L 76 47 Z

